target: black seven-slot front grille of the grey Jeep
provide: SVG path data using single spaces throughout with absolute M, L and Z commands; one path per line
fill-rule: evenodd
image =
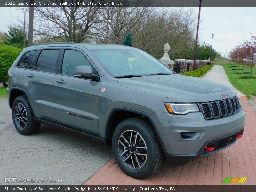
M 240 109 L 237 97 L 207 103 L 199 103 L 199 107 L 206 120 L 229 116 L 237 113 Z

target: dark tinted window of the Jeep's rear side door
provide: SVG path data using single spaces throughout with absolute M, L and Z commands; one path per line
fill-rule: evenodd
M 36 70 L 54 73 L 59 49 L 46 49 L 40 53 Z

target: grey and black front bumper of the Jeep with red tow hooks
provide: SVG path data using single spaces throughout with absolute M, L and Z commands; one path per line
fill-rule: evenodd
M 172 167 L 233 145 L 237 140 L 235 134 L 243 134 L 245 123 L 245 112 L 241 108 L 234 115 L 213 120 L 205 120 L 200 112 L 187 115 L 155 112 L 151 116 L 162 138 L 167 161 Z M 189 139 L 182 137 L 183 133 L 191 132 L 196 132 L 196 136 Z M 235 139 L 229 142 L 232 135 Z M 227 145 L 223 144 L 225 138 L 229 139 Z M 224 146 L 217 147 L 220 140 Z M 214 146 L 214 150 L 205 151 L 206 146 Z

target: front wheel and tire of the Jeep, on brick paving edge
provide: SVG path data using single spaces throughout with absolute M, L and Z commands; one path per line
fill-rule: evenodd
M 151 123 L 142 117 L 126 119 L 117 125 L 112 149 L 121 170 L 136 179 L 155 175 L 165 162 Z

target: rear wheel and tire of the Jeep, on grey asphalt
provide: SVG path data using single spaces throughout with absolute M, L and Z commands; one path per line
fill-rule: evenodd
M 24 95 L 17 97 L 13 102 L 12 120 L 16 130 L 22 135 L 38 132 L 41 125 L 35 122 L 28 98 Z

